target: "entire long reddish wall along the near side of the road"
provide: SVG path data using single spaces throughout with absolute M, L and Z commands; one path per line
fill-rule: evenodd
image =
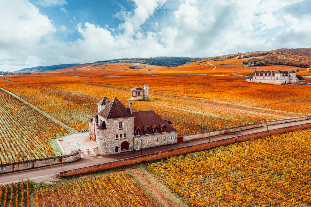
M 233 144 L 235 142 L 247 141 L 247 140 L 251 140 L 251 139 L 255 139 L 259 137 L 281 134 L 281 133 L 290 132 L 290 131 L 297 131 L 300 129 L 307 129 L 310 127 L 311 127 L 311 123 L 306 123 L 306 124 L 300 124 L 296 126 L 283 127 L 280 129 L 272 129 L 268 131 L 257 132 L 257 133 L 248 134 L 248 135 L 234 136 L 234 137 L 230 137 L 224 140 L 207 142 L 207 143 L 202 143 L 198 145 L 191 145 L 191 146 L 181 147 L 181 148 L 172 149 L 172 150 L 160 151 L 157 153 L 147 154 L 143 156 L 122 159 L 122 160 L 118 160 L 114 162 L 102 163 L 99 165 L 63 171 L 63 172 L 60 172 L 60 175 L 61 176 L 76 175 L 76 174 L 81 174 L 81 173 L 93 172 L 97 170 L 116 168 L 116 167 L 120 167 L 123 165 L 140 163 L 142 161 L 163 159 L 163 158 L 167 158 L 167 157 L 175 156 L 179 154 L 196 152 L 200 150 L 207 150 L 207 149 L 211 149 L 211 148 L 218 147 L 218 146 Z

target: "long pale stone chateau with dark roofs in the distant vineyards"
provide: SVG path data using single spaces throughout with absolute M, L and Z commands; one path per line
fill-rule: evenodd
M 292 71 L 256 71 L 247 77 L 247 82 L 270 83 L 270 84 L 304 84 L 306 81 L 302 76 Z

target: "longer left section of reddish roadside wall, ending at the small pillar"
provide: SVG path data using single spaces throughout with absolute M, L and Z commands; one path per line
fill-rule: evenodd
M 104 169 L 109 169 L 109 168 L 116 168 L 120 167 L 123 165 L 129 165 L 129 164 L 135 164 L 135 163 L 140 163 L 142 161 L 149 161 L 149 160 L 156 160 L 156 159 L 162 159 L 174 155 L 179 155 L 179 154 L 184 154 L 184 153 L 189 153 L 189 152 L 196 152 L 199 150 L 206 150 L 222 145 L 229 145 L 235 142 L 235 137 L 227 138 L 224 140 L 218 140 L 214 142 L 208 142 L 208 143 L 202 143 L 198 145 L 192 145 L 192 146 L 186 146 L 186 147 L 181 147 L 177 149 L 172 149 L 172 150 L 166 150 L 166 151 L 160 151 L 152 154 L 147 154 L 143 156 L 138 156 L 138 157 L 133 157 L 133 158 L 128 158 L 128 159 L 121 159 L 118 161 L 114 162 L 108 162 L 108 163 L 103 163 L 103 164 L 98 164 L 98 165 L 93 165 L 93 166 L 88 166 L 84 168 L 77 168 L 73 170 L 67 170 L 60 172 L 60 176 L 69 176 L 69 175 L 77 175 L 81 173 L 88 173 L 88 172 L 93 172 L 97 170 L 104 170 Z

